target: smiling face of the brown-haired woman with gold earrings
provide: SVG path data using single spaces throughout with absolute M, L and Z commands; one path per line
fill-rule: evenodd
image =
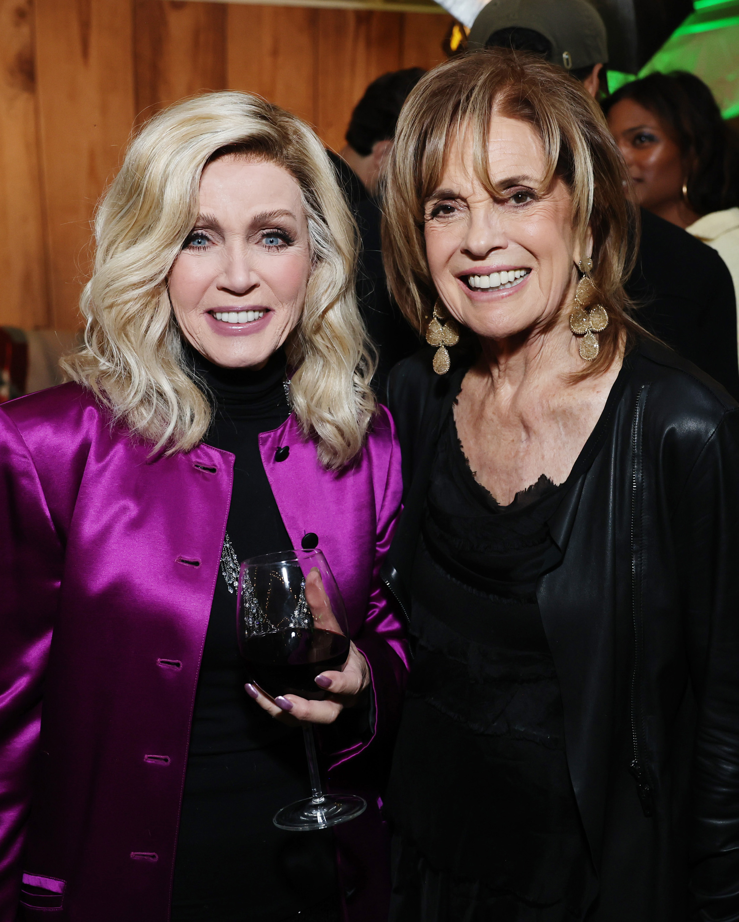
M 425 205 L 426 252 L 448 310 L 479 337 L 503 339 L 545 325 L 571 298 L 581 259 L 565 183 L 544 193 L 544 148 L 534 128 L 493 116 L 491 197 L 473 170 L 472 143 L 454 145 Z

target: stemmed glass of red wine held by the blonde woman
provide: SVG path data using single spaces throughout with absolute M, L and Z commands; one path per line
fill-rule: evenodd
M 349 654 L 346 610 L 321 550 L 285 550 L 240 565 L 237 632 L 250 680 L 275 698 L 297 694 L 321 701 L 316 676 L 341 669 Z M 315 739 L 303 723 L 311 797 L 277 810 L 280 829 L 326 829 L 353 820 L 367 804 L 354 795 L 323 793 Z

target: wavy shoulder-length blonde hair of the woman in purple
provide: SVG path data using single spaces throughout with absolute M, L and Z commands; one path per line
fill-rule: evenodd
M 63 367 L 154 453 L 186 452 L 203 440 L 213 409 L 188 372 L 167 278 L 194 227 L 205 165 L 233 152 L 274 162 L 299 184 L 312 266 L 286 344 L 291 397 L 324 467 L 343 467 L 361 449 L 375 409 L 375 357 L 354 287 L 356 225 L 319 138 L 259 97 L 184 100 L 135 136 L 98 208 L 95 265 L 80 299 L 85 337 Z

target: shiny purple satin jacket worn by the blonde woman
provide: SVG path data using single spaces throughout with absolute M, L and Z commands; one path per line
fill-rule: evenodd
M 401 501 L 393 423 L 381 408 L 341 473 L 321 467 L 292 416 L 260 445 L 288 535 L 295 547 L 319 536 L 369 662 L 374 725 L 334 754 L 329 786 L 368 800 L 336 828 L 339 867 L 346 918 L 380 922 L 374 786 L 406 668 L 379 578 Z M 169 919 L 233 462 L 206 444 L 152 458 L 76 384 L 0 408 L 0 922 L 18 900 L 29 920 Z

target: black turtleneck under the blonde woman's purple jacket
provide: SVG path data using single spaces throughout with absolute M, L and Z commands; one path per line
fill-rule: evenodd
M 260 371 L 219 368 L 193 349 L 190 357 L 215 407 L 205 442 L 236 457 L 227 531 L 237 556 L 291 548 L 259 453 L 259 434 L 289 415 L 284 352 Z M 195 696 L 171 922 L 338 918 L 330 833 L 286 833 L 272 822 L 280 807 L 310 794 L 302 734 L 252 702 L 246 681 L 236 595 L 219 571 Z

